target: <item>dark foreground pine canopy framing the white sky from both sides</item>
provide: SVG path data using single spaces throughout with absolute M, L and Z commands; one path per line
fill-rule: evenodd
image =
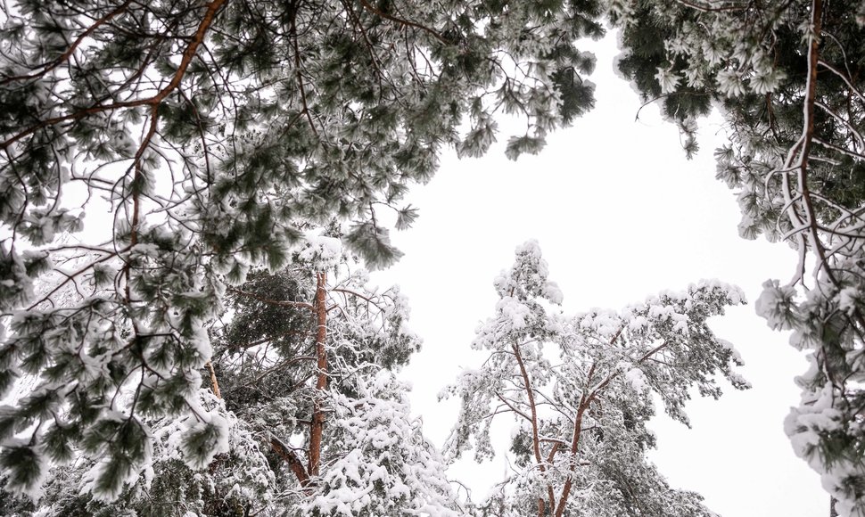
M 0 410 L 6 487 L 83 452 L 117 495 L 105 472 L 136 472 L 165 415 L 192 415 L 190 465 L 225 452 L 199 388 L 228 288 L 332 217 L 368 265 L 398 259 L 378 214 L 411 224 L 401 200 L 442 149 L 482 155 L 504 112 L 526 121 L 515 159 L 592 107 L 579 38 L 604 20 L 686 152 L 721 111 L 741 234 L 798 251 L 757 300 L 810 350 L 787 434 L 839 513 L 865 515 L 865 6 L 828 0 L 4 3 L 0 395 L 38 378 Z

